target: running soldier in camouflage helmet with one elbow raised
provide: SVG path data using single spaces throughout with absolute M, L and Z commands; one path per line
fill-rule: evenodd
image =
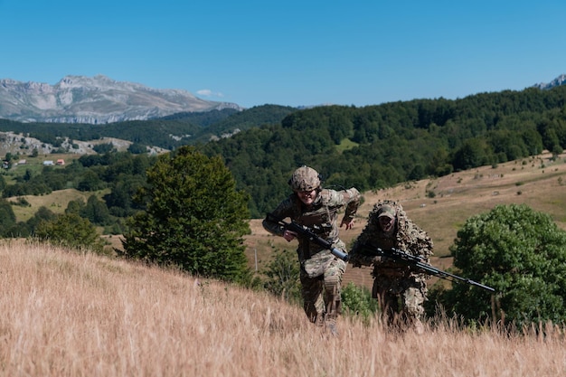
M 318 237 L 331 242 L 346 252 L 345 244 L 338 238 L 337 212 L 345 206 L 340 227 L 354 226 L 354 215 L 360 204 L 360 193 L 355 188 L 335 191 L 322 189 L 315 169 L 299 167 L 288 181 L 293 193 L 279 203 L 271 215 L 279 219 L 290 218 L 307 226 Z M 272 234 L 291 241 L 297 238 L 297 255 L 300 262 L 301 294 L 308 319 L 316 325 L 326 325 L 333 335 L 337 334 L 336 319 L 341 312 L 340 290 L 346 263 L 306 237 L 288 231 L 268 216 L 263 227 Z

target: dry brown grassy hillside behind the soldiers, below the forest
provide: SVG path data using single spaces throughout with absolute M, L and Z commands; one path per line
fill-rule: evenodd
M 351 244 L 363 230 L 373 204 L 383 199 L 400 201 L 410 219 L 429 233 L 435 246 L 431 264 L 439 269 L 450 266 L 448 248 L 466 220 L 480 212 L 490 211 L 497 204 L 528 204 L 535 211 L 549 213 L 553 221 L 566 230 L 566 154 L 555 162 L 550 157 L 550 154 L 542 154 L 496 167 L 482 166 L 437 179 L 363 193 L 364 203 L 358 212 L 354 230 L 342 231 L 341 237 L 346 244 Z M 430 198 L 428 191 L 436 196 Z M 296 243 L 288 243 L 263 230 L 261 220 L 250 221 L 250 228 L 251 235 L 246 239 L 248 256 L 254 261 L 257 251 L 259 269 L 269 260 L 271 246 L 279 250 L 295 250 L 297 247 Z M 344 274 L 344 284 L 353 281 L 357 285 L 371 287 L 370 272 L 371 269 L 354 269 L 349 265 Z

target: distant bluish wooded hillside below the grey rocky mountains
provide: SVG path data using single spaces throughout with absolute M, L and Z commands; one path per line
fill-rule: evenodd
M 31 153 L 34 148 L 40 153 L 62 149 L 85 154 L 92 152 L 90 148 L 93 145 L 108 144 L 110 140 L 114 144 L 119 142 L 129 146 L 135 143 L 152 147 L 153 151 L 172 150 L 231 137 L 254 127 L 279 124 L 288 114 L 296 111 L 297 108 L 263 105 L 242 110 L 222 108 L 179 112 L 146 120 L 80 125 L 21 122 L 0 116 L 0 141 L 9 139 L 9 148 L 2 146 L 0 156 L 4 156 L 6 152 Z

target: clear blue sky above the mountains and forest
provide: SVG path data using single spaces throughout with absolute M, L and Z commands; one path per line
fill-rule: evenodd
M 566 73 L 566 1 L 0 0 L 0 79 L 102 74 L 250 108 L 524 90 Z

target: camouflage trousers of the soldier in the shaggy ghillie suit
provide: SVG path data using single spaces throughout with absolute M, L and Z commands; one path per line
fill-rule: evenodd
M 420 276 L 389 277 L 374 273 L 373 297 L 389 325 L 419 323 L 424 315 L 428 289 Z

